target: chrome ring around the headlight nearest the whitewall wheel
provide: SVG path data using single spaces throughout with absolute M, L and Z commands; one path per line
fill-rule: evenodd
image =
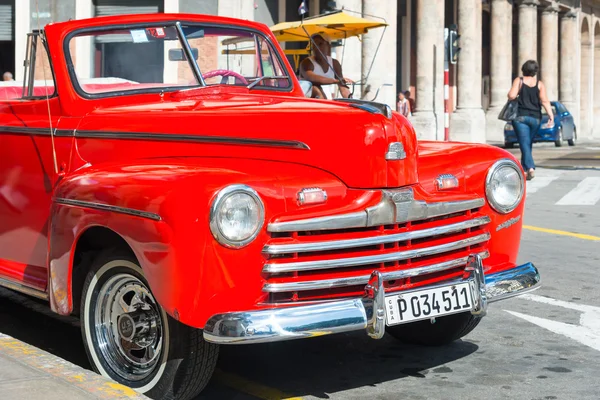
M 238 194 L 238 193 L 243 193 L 243 194 L 249 196 L 256 203 L 257 208 L 258 208 L 258 225 L 257 225 L 257 228 L 255 229 L 255 231 L 247 238 L 245 238 L 243 240 L 232 240 L 223 233 L 221 226 L 219 225 L 219 221 L 218 221 L 218 212 L 219 212 L 219 208 L 220 208 L 221 204 L 223 203 L 223 201 L 225 201 L 230 196 Z M 258 193 L 256 192 L 256 190 L 252 189 L 250 186 L 247 186 L 247 185 L 235 184 L 235 185 L 230 185 L 230 186 L 227 186 L 227 187 L 221 189 L 217 193 L 217 196 L 213 200 L 212 205 L 210 207 L 210 231 L 211 231 L 213 237 L 221 245 L 223 245 L 225 247 L 229 247 L 229 248 L 233 248 L 233 249 L 240 249 L 240 248 L 250 244 L 254 239 L 256 239 L 256 236 L 258 236 L 262 227 L 264 226 L 264 223 L 265 223 L 264 203 L 262 202 L 262 200 L 261 200 L 260 196 L 258 195 Z

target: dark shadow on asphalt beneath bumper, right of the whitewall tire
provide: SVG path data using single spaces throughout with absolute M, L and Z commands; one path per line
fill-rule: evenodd
M 407 377 L 467 357 L 479 347 L 457 341 L 444 347 L 404 345 L 365 332 L 290 342 L 222 346 L 219 368 L 293 396 L 336 393 Z M 435 371 L 434 371 L 435 372 Z

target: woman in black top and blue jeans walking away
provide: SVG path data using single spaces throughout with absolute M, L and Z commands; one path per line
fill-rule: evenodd
M 554 125 L 554 115 L 546 95 L 546 87 L 536 77 L 539 69 L 536 61 L 526 61 L 521 67 L 523 76 L 513 81 L 513 85 L 508 92 L 509 100 L 519 98 L 519 113 L 513 121 L 513 127 L 521 149 L 521 165 L 527 173 L 528 181 L 535 176 L 535 163 L 532 154 L 533 138 L 540 127 L 542 106 L 548 114 L 548 125 Z

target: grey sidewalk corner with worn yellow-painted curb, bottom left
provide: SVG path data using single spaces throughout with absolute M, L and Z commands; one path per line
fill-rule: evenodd
M 0 333 L 0 399 L 148 399 L 134 390 Z

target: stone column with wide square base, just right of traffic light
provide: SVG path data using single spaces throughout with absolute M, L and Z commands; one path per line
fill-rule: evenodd
M 450 140 L 485 143 L 481 108 L 481 0 L 459 0 L 458 104 L 450 115 Z

